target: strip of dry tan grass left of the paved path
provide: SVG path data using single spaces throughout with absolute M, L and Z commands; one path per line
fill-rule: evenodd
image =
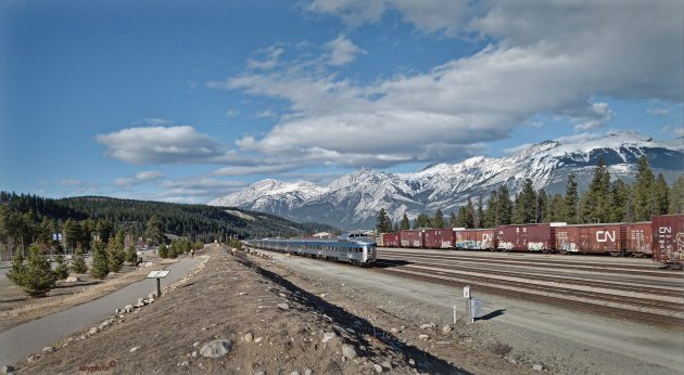
M 113 275 L 113 277 L 110 276 L 112 279 L 106 279 L 102 282 L 93 283 L 93 281 L 91 280 L 90 282 L 85 282 L 85 284 L 75 284 L 71 287 L 78 288 L 79 290 L 73 294 L 53 294 L 52 292 L 58 290 L 53 289 L 51 290 L 51 295 L 45 298 L 34 299 L 24 295 L 24 298 L 21 298 L 21 300 L 14 300 L 14 302 L 18 302 L 14 303 L 14 307 L 4 311 L 0 311 L 0 332 L 9 329 L 18 324 L 26 323 L 34 319 L 42 318 L 54 312 L 69 309 L 74 306 L 98 299 L 106 294 L 118 290 L 126 285 L 144 279 L 144 276 L 150 273 L 150 271 L 161 270 L 174 262 L 176 262 L 176 260 L 165 260 L 150 268 L 134 269 L 126 273 L 118 273 L 116 275 Z M 88 275 L 78 276 L 81 277 L 81 280 L 89 279 Z M 68 284 L 61 283 L 61 285 Z M 10 290 L 10 288 L 4 289 Z M 18 288 L 16 289 L 18 290 Z M 16 295 L 16 290 L 14 290 L 14 295 Z M 3 302 L 3 305 L 4 303 L 5 302 Z

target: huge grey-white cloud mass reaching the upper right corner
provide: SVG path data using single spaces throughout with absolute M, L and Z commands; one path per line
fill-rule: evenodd
M 540 114 L 569 119 L 582 134 L 605 127 L 615 113 L 595 98 L 680 102 L 683 96 L 676 1 L 463 4 L 320 0 L 307 8 L 349 22 L 358 16 L 362 23 L 398 11 L 426 31 L 491 40 L 477 54 L 428 72 L 362 85 L 300 62 L 299 68 L 248 72 L 207 87 L 290 104 L 265 135 L 236 142 L 243 152 L 344 166 L 455 161 Z M 449 24 L 442 16 L 452 11 Z

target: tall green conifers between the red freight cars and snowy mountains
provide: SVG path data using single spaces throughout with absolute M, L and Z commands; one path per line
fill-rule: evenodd
M 418 215 L 411 228 L 477 229 L 542 222 L 638 222 L 649 221 L 654 215 L 666 214 L 684 214 L 684 174 L 668 185 L 662 173 L 655 176 L 647 158 L 642 156 L 634 182 L 625 183 L 610 176 L 605 159 L 600 157 L 588 189 L 582 194 L 573 173 L 568 176 L 565 194 L 550 195 L 543 189 L 535 190 L 533 181 L 525 179 L 520 192 L 512 197 L 508 186 L 502 184 L 490 193 L 486 207 L 482 196 L 478 196 L 476 202 L 468 197 L 466 205 L 446 217 L 441 209 L 433 216 Z M 406 214 L 396 223 L 383 216 L 387 217 L 387 212 L 381 210 L 378 215 L 379 231 L 409 229 Z

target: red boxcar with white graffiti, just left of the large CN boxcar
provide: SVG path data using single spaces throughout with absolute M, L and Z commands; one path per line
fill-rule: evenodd
M 506 251 L 550 251 L 556 245 L 555 228 L 548 223 L 499 225 L 495 245 Z

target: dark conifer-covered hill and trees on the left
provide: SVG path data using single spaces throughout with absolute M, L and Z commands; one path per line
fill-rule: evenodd
M 192 243 L 211 243 L 230 235 L 244 238 L 283 231 L 331 231 L 329 225 L 293 223 L 262 212 L 254 212 L 253 219 L 205 205 L 107 197 L 51 199 L 0 192 L 0 253 L 9 257 L 18 250 L 26 256 L 31 244 L 55 253 L 87 253 L 92 250 L 92 240 L 106 249 L 110 240 L 119 234 L 131 242 L 143 237 L 147 244 L 159 245 L 168 242 L 168 234 Z M 55 233 L 63 234 L 62 242 L 53 240 Z

